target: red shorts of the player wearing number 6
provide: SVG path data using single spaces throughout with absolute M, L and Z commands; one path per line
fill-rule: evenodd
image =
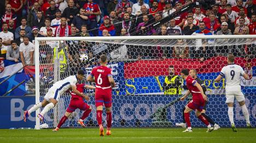
M 105 107 L 112 107 L 112 89 L 99 89 L 95 90 L 95 104 L 96 107 L 103 105 Z

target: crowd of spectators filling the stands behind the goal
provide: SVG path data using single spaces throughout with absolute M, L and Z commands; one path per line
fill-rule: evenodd
M 36 37 L 67 36 L 131 36 L 131 35 L 247 35 L 255 34 L 256 1 L 210 0 L 192 10 L 162 23 L 158 27 L 150 24 L 173 14 L 192 3 L 193 0 L 5 0 L 0 2 L 1 57 L 22 64 L 33 64 L 34 39 Z M 75 42 L 75 41 L 74 41 Z M 186 41 L 178 40 L 177 46 L 140 46 L 110 51 L 112 59 L 123 58 L 200 58 L 205 60 L 217 53 L 228 53 L 253 57 L 255 45 L 209 47 L 201 41 L 200 47 L 184 47 Z M 72 44 L 79 46 L 72 47 Z M 47 45 L 47 46 L 44 46 Z M 40 43 L 40 58 L 54 48 L 56 42 Z M 69 60 L 76 57 L 75 48 L 90 49 L 89 57 L 106 49 L 104 43 L 85 47 L 85 42 L 69 43 Z M 71 51 L 73 49 L 73 51 Z M 140 52 L 138 52 L 140 51 Z

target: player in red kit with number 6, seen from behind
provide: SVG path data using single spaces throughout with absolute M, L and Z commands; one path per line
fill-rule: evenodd
M 104 136 L 104 129 L 102 126 L 102 110 L 103 103 L 107 114 L 107 135 L 111 134 L 110 127 L 112 123 L 112 88 L 115 87 L 115 81 L 112 77 L 112 70 L 107 67 L 107 55 L 103 54 L 100 57 L 101 66 L 92 69 L 90 75 L 86 80 L 96 83 L 95 90 L 95 104 L 98 126 L 100 127 L 100 136 Z

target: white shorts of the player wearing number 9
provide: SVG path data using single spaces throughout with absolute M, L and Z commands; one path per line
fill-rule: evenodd
M 245 101 L 242 91 L 226 91 L 226 103 L 234 103 L 234 98 L 237 102 Z

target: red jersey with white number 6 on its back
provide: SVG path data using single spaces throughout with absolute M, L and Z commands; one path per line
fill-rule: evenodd
M 107 66 L 98 66 L 92 69 L 91 76 L 95 77 L 96 89 L 109 89 L 111 85 L 109 83 L 108 77 L 112 76 L 112 70 Z

